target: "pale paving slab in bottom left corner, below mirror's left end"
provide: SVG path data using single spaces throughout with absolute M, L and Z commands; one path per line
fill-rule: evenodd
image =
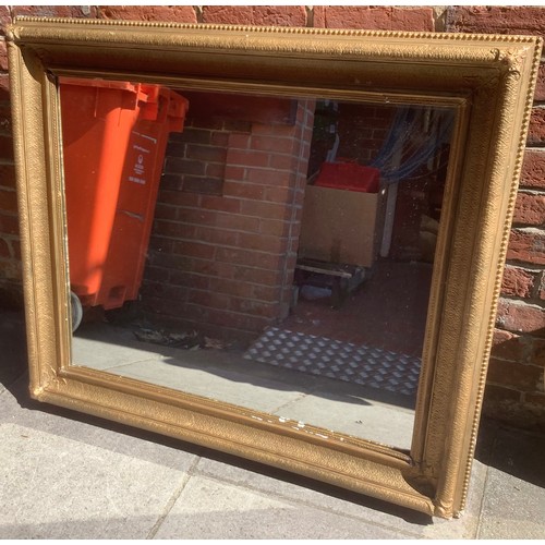
M 197 456 L 131 432 L 29 399 L 24 375 L 1 391 L 0 538 L 147 537 Z

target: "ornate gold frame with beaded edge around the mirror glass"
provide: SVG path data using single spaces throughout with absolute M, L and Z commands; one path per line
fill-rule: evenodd
M 541 41 L 526 36 L 22 17 L 7 34 L 32 396 L 457 517 L 470 481 Z M 56 78 L 453 108 L 409 451 L 70 366 Z

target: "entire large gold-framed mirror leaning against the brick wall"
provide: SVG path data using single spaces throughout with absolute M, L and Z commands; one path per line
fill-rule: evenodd
M 540 40 L 7 39 L 33 397 L 459 516 Z

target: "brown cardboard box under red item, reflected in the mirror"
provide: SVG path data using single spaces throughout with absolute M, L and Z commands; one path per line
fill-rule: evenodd
M 362 193 L 307 185 L 299 257 L 371 267 L 383 239 L 386 189 Z

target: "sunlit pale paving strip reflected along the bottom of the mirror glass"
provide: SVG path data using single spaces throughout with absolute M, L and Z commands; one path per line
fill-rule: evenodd
M 244 349 L 182 350 L 141 342 L 133 330 L 85 324 L 73 339 L 74 363 L 399 448 L 411 447 L 413 397 L 249 361 Z

